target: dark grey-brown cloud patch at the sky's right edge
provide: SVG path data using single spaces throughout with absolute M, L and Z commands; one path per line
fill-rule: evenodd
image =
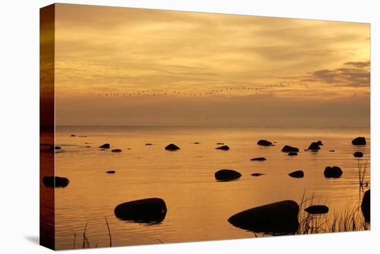
M 365 68 L 370 66 L 370 62 L 345 62 L 343 65 L 353 66 L 354 68 L 313 71 L 309 73 L 310 78 L 306 78 L 306 80 L 354 87 L 370 85 L 370 70 Z

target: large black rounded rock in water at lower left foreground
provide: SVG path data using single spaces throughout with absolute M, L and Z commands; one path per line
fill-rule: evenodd
M 135 222 L 158 223 L 167 215 L 167 205 L 163 199 L 139 199 L 121 203 L 115 207 L 115 216 Z

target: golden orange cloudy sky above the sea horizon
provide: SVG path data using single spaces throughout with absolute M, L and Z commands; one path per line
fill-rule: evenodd
M 369 127 L 370 24 L 56 4 L 55 98 L 57 125 Z

